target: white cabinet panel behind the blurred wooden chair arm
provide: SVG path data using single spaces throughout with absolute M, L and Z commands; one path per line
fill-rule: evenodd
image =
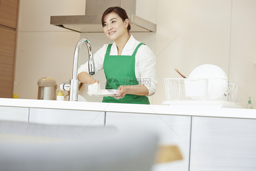
M 115 126 L 118 130 L 135 129 L 157 132 L 160 144 L 178 145 L 183 159 L 170 163 L 155 164 L 152 171 L 188 171 L 191 116 L 106 112 L 106 126 Z

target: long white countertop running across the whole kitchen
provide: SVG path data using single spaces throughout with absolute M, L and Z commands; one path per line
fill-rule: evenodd
M 256 109 L 0 98 L 0 106 L 256 119 Z

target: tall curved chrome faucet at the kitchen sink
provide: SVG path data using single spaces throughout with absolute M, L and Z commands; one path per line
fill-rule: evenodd
M 84 42 L 86 43 L 88 47 L 88 52 L 89 52 L 89 62 L 88 62 L 89 74 L 90 75 L 95 74 L 92 45 L 87 38 L 81 38 L 77 42 L 77 46 L 75 49 L 72 79 L 69 81 L 69 83 L 60 84 L 60 90 L 69 91 L 69 101 L 77 101 L 77 98 L 78 98 L 78 85 L 79 85 L 79 80 L 77 78 L 78 54 L 79 54 L 80 47 Z

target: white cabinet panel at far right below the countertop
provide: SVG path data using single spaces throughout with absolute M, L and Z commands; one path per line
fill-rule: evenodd
M 255 171 L 256 120 L 192 117 L 190 171 Z

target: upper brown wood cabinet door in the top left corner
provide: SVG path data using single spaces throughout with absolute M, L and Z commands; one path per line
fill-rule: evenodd
M 0 0 L 0 24 L 16 28 L 18 0 Z

